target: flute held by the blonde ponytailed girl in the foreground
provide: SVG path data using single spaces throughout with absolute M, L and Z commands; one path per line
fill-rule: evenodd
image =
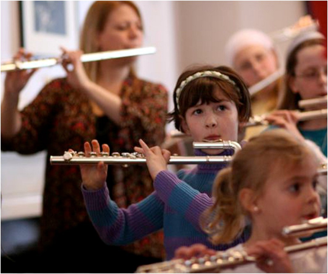
M 327 219 L 320 218 L 309 220 L 308 223 L 301 225 L 286 226 L 285 231 L 295 230 L 300 227 L 302 230 L 314 231 L 313 223 L 320 222 L 321 230 L 327 229 Z M 318 229 L 318 225 L 315 227 Z M 297 252 L 309 248 L 327 246 L 327 237 L 317 238 L 304 243 L 289 245 L 284 248 L 287 253 Z M 135 273 L 219 273 L 220 269 L 232 268 L 238 265 L 256 262 L 256 257 L 249 256 L 245 251 L 230 250 L 218 251 L 215 255 L 206 255 L 201 258 L 191 258 L 189 260 L 176 259 L 162 263 L 139 266 Z

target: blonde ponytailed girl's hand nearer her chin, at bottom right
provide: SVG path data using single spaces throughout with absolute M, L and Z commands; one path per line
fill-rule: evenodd
M 293 273 L 288 254 L 284 251 L 284 243 L 277 239 L 258 241 L 246 248 L 250 256 L 257 258 L 258 268 L 267 273 Z

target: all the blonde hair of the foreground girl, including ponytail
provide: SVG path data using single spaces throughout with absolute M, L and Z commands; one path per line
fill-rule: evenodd
M 236 153 L 231 165 L 221 170 L 213 185 L 215 204 L 206 210 L 201 225 L 214 244 L 230 243 L 241 234 L 248 212 L 238 196 L 249 188 L 261 195 L 273 165 L 299 165 L 312 151 L 284 129 L 261 133 Z

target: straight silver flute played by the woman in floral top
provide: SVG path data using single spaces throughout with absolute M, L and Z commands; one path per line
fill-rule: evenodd
M 81 62 L 85 63 L 85 62 L 116 59 L 116 58 L 123 58 L 123 57 L 137 56 L 137 55 L 153 54 L 155 52 L 156 52 L 156 48 L 146 47 L 146 48 L 136 48 L 136 49 L 120 49 L 120 50 L 85 53 L 81 56 Z M 9 63 L 2 63 L 1 72 L 51 67 L 57 64 L 61 64 L 63 59 L 65 59 L 65 57 L 44 58 L 44 59 L 31 60 L 31 61 L 17 60 Z

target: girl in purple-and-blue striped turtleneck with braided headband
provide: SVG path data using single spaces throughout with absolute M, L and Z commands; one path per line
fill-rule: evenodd
M 242 123 L 251 114 L 249 92 L 241 78 L 227 67 L 202 67 L 188 70 L 179 77 L 174 90 L 174 111 L 170 114 L 175 127 L 192 136 L 194 141 L 218 139 L 237 141 Z M 159 147 L 149 148 L 140 140 L 147 158 L 155 191 L 144 200 L 119 208 L 110 198 L 106 186 L 107 166 L 80 165 L 82 193 L 95 229 L 110 245 L 125 245 L 164 228 L 166 256 L 171 259 L 181 245 L 200 242 L 224 250 L 246 240 L 246 232 L 229 244 L 212 245 L 199 226 L 202 212 L 213 204 L 212 184 L 224 164 L 199 164 L 174 174 L 167 170 L 170 153 Z M 109 152 L 107 145 L 103 151 Z M 100 153 L 96 140 L 85 143 L 85 152 Z M 230 150 L 195 150 L 195 155 L 231 155 Z M 138 176 L 136 174 L 136 176 Z

